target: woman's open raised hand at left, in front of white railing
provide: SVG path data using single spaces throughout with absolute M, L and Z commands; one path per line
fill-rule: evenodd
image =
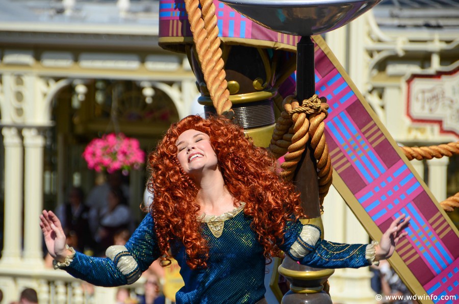
M 63 263 L 72 252 L 65 246 L 66 238 L 61 221 L 53 211 L 43 210 L 40 215 L 40 227 L 49 255 Z

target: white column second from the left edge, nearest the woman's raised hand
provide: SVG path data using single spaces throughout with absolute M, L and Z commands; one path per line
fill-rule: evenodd
M 43 265 L 39 215 L 43 208 L 44 138 L 37 129 L 22 130 L 25 151 L 24 183 L 24 262 Z

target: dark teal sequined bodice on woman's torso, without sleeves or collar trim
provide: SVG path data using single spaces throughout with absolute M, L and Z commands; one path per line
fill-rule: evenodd
M 250 222 L 239 212 L 224 220 L 218 238 L 207 222 L 201 223 L 202 234 L 209 242 L 209 267 L 205 269 L 188 267 L 183 246 L 173 252 L 185 282 L 176 294 L 177 303 L 254 303 L 263 298 L 265 259 Z

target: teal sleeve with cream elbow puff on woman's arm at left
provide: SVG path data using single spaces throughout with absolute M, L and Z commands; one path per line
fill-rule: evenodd
M 118 246 L 119 247 L 119 246 Z M 64 269 L 74 277 L 97 286 L 114 287 L 134 283 L 160 257 L 154 221 L 150 214 L 142 220 L 125 248 L 112 258 L 88 257 L 76 252 Z M 122 264 L 129 261 L 129 271 Z

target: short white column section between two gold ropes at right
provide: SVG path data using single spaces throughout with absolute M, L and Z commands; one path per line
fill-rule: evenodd
M 427 161 L 429 167 L 428 185 L 433 196 L 438 201 L 446 199 L 446 176 L 448 169 L 449 158 L 434 158 Z

